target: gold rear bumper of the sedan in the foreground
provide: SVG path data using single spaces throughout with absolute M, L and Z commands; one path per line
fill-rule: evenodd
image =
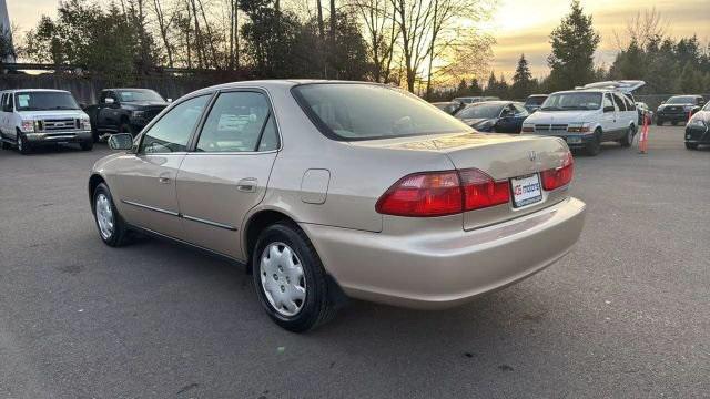
M 567 198 L 470 232 L 406 236 L 302 224 L 326 270 L 358 299 L 420 309 L 452 307 L 525 277 L 567 254 L 585 204 Z

